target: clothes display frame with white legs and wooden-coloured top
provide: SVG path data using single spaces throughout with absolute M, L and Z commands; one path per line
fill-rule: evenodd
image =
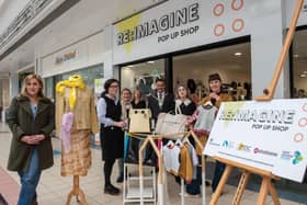
M 195 135 L 195 133 L 193 130 L 186 132 L 184 137 L 189 137 L 192 136 L 195 140 L 195 143 L 197 144 L 197 146 L 200 146 L 202 149 L 204 148 L 202 143 L 200 141 L 198 137 Z M 167 135 L 148 135 L 148 137 L 145 139 L 145 141 L 143 143 L 138 156 L 139 156 L 139 187 L 140 187 L 140 205 L 144 205 L 144 173 L 143 173 L 143 152 L 146 148 L 146 146 L 149 144 L 156 156 L 158 157 L 158 166 L 159 166 L 159 173 L 158 173 L 158 205 L 163 205 L 164 204 L 164 192 L 163 192 L 163 183 L 164 183 L 164 179 L 163 179 L 163 170 L 164 170 L 164 166 L 163 166 L 163 158 L 161 152 L 159 151 L 155 140 L 161 140 L 162 138 L 168 139 Z M 206 194 L 205 194 L 205 156 L 202 155 L 202 204 L 205 205 L 206 203 Z M 182 184 L 183 185 L 183 184 Z M 181 190 L 183 186 L 181 186 Z M 182 192 L 182 196 L 181 196 L 181 203 L 184 204 L 184 194 Z

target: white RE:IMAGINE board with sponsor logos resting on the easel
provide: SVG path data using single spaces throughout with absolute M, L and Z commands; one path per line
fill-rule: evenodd
M 307 99 L 223 103 L 204 155 L 302 182 L 307 166 Z

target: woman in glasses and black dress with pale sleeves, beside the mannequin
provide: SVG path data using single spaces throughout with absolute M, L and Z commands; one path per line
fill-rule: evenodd
M 124 155 L 125 122 L 122 119 L 122 106 L 116 98 L 120 82 L 109 79 L 104 83 L 105 93 L 99 100 L 96 110 L 101 123 L 102 157 L 104 160 L 104 193 L 117 195 L 120 190 L 111 184 L 112 168 L 115 159 Z

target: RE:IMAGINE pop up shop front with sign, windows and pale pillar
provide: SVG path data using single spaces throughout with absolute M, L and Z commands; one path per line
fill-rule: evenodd
M 140 87 L 147 94 L 155 89 L 155 79 L 162 77 L 173 92 L 178 84 L 187 86 L 192 80 L 190 91 L 202 98 L 208 92 L 207 76 L 219 72 L 224 89 L 237 100 L 262 95 L 275 71 L 295 3 L 170 0 L 117 22 L 113 26 L 113 64 L 121 68 L 121 87 Z M 306 24 L 307 2 L 276 99 L 297 98 L 302 89 L 306 95 Z M 250 189 L 257 190 L 259 179 L 251 181 Z M 307 200 L 300 194 L 305 185 L 287 180 L 276 183 L 282 197 L 297 202 Z

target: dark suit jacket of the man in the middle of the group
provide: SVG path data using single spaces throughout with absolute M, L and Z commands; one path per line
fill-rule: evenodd
M 151 110 L 152 117 L 157 121 L 160 113 L 168 113 L 174 110 L 174 98 L 172 94 L 164 95 L 162 107 L 160 109 L 157 93 L 147 96 L 148 109 Z

